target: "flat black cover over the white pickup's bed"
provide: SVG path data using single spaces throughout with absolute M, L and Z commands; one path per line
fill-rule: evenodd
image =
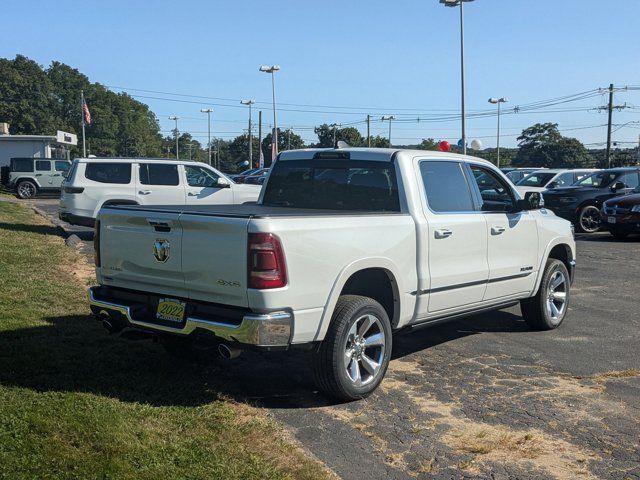
M 274 207 L 257 203 L 245 203 L 242 205 L 109 205 L 109 209 L 234 218 L 405 215 L 400 212 L 368 210 L 320 210 L 313 208 Z

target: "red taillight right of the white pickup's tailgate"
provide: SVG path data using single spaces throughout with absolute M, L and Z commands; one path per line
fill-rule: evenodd
M 287 284 L 287 266 L 280 239 L 272 233 L 250 233 L 248 286 L 260 290 Z

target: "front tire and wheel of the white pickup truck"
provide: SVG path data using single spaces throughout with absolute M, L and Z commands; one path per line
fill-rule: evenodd
M 559 276 L 563 279 L 563 284 L 559 284 L 555 289 L 551 289 L 552 281 L 556 281 Z M 552 300 L 557 294 L 564 293 L 564 302 Z M 549 258 L 545 265 L 542 281 L 538 293 L 534 297 L 520 301 L 520 309 L 524 321 L 534 330 L 553 330 L 558 328 L 567 316 L 570 300 L 570 277 L 569 271 L 564 263 L 555 258 Z M 554 315 L 552 302 L 556 310 L 560 313 Z M 562 305 L 561 310 L 558 305 Z

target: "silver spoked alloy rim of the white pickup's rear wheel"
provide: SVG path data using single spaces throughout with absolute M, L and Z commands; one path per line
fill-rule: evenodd
M 354 385 L 360 387 L 373 381 L 384 359 L 385 344 L 378 317 L 367 314 L 353 322 L 344 349 L 344 365 Z

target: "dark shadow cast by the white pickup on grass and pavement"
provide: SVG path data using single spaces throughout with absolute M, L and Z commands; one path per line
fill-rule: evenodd
M 393 358 L 420 355 L 468 335 L 528 331 L 516 319 L 501 311 L 397 335 Z M 195 364 L 167 354 L 148 335 L 136 341 L 131 334 L 109 335 L 90 316 L 47 321 L 47 326 L 0 332 L 0 383 L 157 406 L 197 406 L 220 398 L 276 409 L 336 403 L 316 390 L 309 352 L 247 351 L 232 361 Z

